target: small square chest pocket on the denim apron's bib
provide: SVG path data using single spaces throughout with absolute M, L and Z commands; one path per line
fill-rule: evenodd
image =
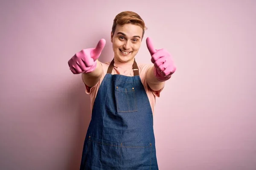
M 137 111 L 135 88 L 122 88 L 116 86 L 116 110 L 117 112 Z

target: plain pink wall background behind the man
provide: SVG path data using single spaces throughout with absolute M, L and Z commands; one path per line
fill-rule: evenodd
M 0 3 L 0 169 L 79 169 L 90 120 L 67 61 L 135 11 L 177 72 L 157 99 L 160 170 L 256 170 L 256 1 L 9 0 Z M 137 61 L 150 63 L 145 39 Z

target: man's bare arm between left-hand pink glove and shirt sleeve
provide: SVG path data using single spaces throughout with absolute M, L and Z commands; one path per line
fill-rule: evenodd
M 96 62 L 97 62 L 97 65 L 94 71 L 90 73 L 82 74 L 82 79 L 84 83 L 89 87 L 93 87 L 94 85 L 96 85 L 103 74 L 103 68 L 101 63 L 99 62 L 98 59 L 96 60 Z

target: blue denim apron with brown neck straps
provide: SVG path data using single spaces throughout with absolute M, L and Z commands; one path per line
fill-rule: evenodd
M 158 170 L 153 115 L 134 60 L 134 76 L 108 67 L 97 93 L 80 170 Z

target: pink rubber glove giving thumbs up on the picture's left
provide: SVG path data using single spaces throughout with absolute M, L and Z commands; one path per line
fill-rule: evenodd
M 99 40 L 96 48 L 87 48 L 76 53 L 69 61 L 68 65 L 73 74 L 90 73 L 95 70 L 97 62 L 106 40 Z

